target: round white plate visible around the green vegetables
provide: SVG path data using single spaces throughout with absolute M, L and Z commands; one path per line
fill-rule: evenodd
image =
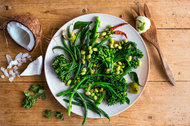
M 46 80 L 48 83 L 48 86 L 53 94 L 53 96 L 55 97 L 55 99 L 57 99 L 57 101 L 63 105 L 65 108 L 67 108 L 68 103 L 63 101 L 63 97 L 57 97 L 56 94 L 64 91 L 66 89 L 68 89 L 68 86 L 65 86 L 65 84 L 63 82 L 61 82 L 57 75 L 54 73 L 54 70 L 52 68 L 52 62 L 55 59 L 55 57 L 59 54 L 62 54 L 63 51 L 62 50 L 55 50 L 55 53 L 52 52 L 52 48 L 54 46 L 58 46 L 58 45 L 62 45 L 61 43 L 61 32 L 62 30 L 65 30 L 68 28 L 68 26 L 76 21 L 94 21 L 94 18 L 96 16 L 100 17 L 100 21 L 103 22 L 102 27 L 99 29 L 99 31 L 101 31 L 101 29 L 104 29 L 106 26 L 112 24 L 112 25 L 117 25 L 120 23 L 125 23 L 124 20 L 111 16 L 111 15 L 107 15 L 107 14 L 87 14 L 87 15 L 82 15 L 79 16 L 69 22 L 67 22 L 65 25 L 63 25 L 53 36 L 48 48 L 47 48 L 47 52 L 46 52 L 46 56 L 45 56 L 45 62 L 44 62 L 44 67 L 45 67 L 45 76 L 46 76 Z M 140 50 L 142 50 L 144 57 L 141 59 L 142 61 L 142 65 L 141 67 L 139 67 L 138 69 L 133 69 L 133 71 L 136 71 L 138 76 L 139 76 L 139 81 L 140 84 L 143 85 L 143 87 L 140 87 L 139 93 L 138 94 L 130 94 L 128 93 L 128 97 L 130 99 L 130 104 L 128 105 L 126 104 L 122 104 L 120 105 L 115 104 L 112 106 L 108 106 L 105 103 L 102 103 L 100 105 L 100 108 L 102 108 L 106 113 L 108 113 L 109 116 L 114 116 L 116 114 L 119 114 L 120 112 L 126 110 L 127 108 L 129 108 L 130 106 L 132 106 L 135 101 L 139 98 L 139 96 L 141 95 L 146 81 L 148 79 L 148 74 L 149 74 L 149 57 L 148 57 L 148 52 L 147 52 L 147 48 L 144 44 L 143 39 L 141 38 L 141 36 L 136 32 L 136 30 L 131 26 L 131 25 L 124 25 L 120 28 L 118 28 L 121 31 L 124 31 L 125 33 L 127 33 L 128 39 L 129 41 L 133 41 L 137 43 L 137 48 L 139 48 Z M 121 38 L 121 37 L 119 37 Z M 123 38 L 124 39 L 124 38 Z M 128 76 L 126 76 L 128 82 L 130 82 L 130 79 Z M 72 110 L 73 113 L 77 114 L 77 115 L 84 115 L 84 110 L 82 107 L 78 107 L 73 105 Z M 99 115 L 97 115 L 96 113 L 92 112 L 89 110 L 88 112 L 88 117 L 89 118 L 100 118 Z M 102 116 L 103 117 L 103 116 Z

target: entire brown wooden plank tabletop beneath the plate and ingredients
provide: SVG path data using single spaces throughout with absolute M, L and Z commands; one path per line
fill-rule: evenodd
M 44 55 L 48 38 L 67 21 L 88 13 L 105 13 L 120 17 L 134 26 L 130 9 L 147 3 L 158 29 L 158 40 L 170 64 L 176 86 L 171 86 L 154 47 L 146 43 L 150 56 L 150 75 L 139 100 L 128 110 L 107 119 L 88 119 L 86 125 L 190 125 L 190 2 L 189 0 L 0 0 L 0 24 L 17 14 L 30 12 L 41 21 L 43 38 L 30 53 L 33 59 Z M 7 38 L 8 44 L 6 44 Z M 15 57 L 27 52 L 0 31 L 0 66 L 6 67 L 5 54 Z M 27 62 L 28 63 L 28 62 Z M 24 70 L 26 65 L 20 68 Z M 23 91 L 36 83 L 46 88 L 47 99 L 31 109 L 21 107 Z M 43 111 L 51 109 L 65 114 L 65 120 L 46 119 Z M 0 79 L 0 125 L 81 125 L 83 117 L 71 114 L 52 96 L 44 73 L 41 76 L 16 78 L 13 83 Z

